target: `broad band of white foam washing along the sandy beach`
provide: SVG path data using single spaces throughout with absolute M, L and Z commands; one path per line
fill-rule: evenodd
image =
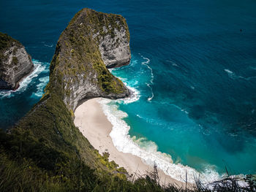
M 145 138 L 131 138 L 129 136 L 130 127 L 123 120 L 123 118 L 127 117 L 127 113 L 118 110 L 118 106 L 115 102 L 116 101 L 111 101 L 109 99 L 99 100 L 105 115 L 113 125 L 110 137 L 113 140 L 113 145 L 115 145 L 119 151 L 137 155 L 148 165 L 153 166 L 156 164 L 159 169 L 162 169 L 162 171 L 165 172 L 165 174 L 183 182 L 186 172 L 187 181 L 190 183 L 194 183 L 194 178 L 199 177 L 199 174 L 200 179 L 203 180 L 204 183 L 219 179 L 219 174 L 214 171 L 213 167 L 206 166 L 205 172 L 199 173 L 189 166 L 173 164 L 171 156 L 159 152 L 157 150 L 157 145 L 154 142 L 148 141 Z M 140 117 L 140 115 L 137 116 Z

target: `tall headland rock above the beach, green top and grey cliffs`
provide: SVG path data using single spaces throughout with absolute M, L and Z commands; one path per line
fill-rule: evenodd
M 72 111 L 85 99 L 129 96 L 127 87 L 106 68 L 129 64 L 129 60 L 126 20 L 82 9 L 59 37 L 47 93 L 58 93 Z

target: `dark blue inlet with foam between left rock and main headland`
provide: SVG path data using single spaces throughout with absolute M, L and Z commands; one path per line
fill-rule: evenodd
M 34 71 L 29 74 L 16 91 L 0 91 L 0 128 L 13 126 L 42 97 L 49 81 L 47 62 L 32 59 Z

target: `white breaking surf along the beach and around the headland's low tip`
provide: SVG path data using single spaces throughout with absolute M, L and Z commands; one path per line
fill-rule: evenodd
M 150 60 L 143 55 L 140 55 L 145 61 L 141 65 L 146 66 L 151 74 L 149 82 L 145 82 L 148 88 L 151 90 L 151 96 L 148 97 L 148 101 L 154 98 L 154 92 L 152 90 L 152 85 L 154 85 L 154 74 L 153 69 L 148 65 Z M 137 61 L 137 60 L 135 60 Z M 134 65 L 134 61 L 131 64 Z M 112 69 L 111 72 L 115 72 L 118 69 Z M 118 75 L 117 75 L 118 76 Z M 125 75 L 124 75 L 125 76 Z M 120 78 L 120 77 L 119 77 Z M 220 175 L 215 171 L 214 166 L 206 165 L 204 172 L 197 172 L 189 166 L 184 166 L 182 164 L 174 164 L 172 157 L 167 153 L 162 153 L 158 150 L 157 144 L 153 141 L 148 141 L 146 138 L 137 138 L 129 136 L 129 125 L 126 123 L 124 118 L 128 115 L 126 112 L 118 109 L 119 104 L 131 104 L 140 99 L 140 91 L 138 91 L 138 81 L 134 79 L 120 78 L 125 85 L 132 91 L 132 95 L 127 99 L 117 99 L 112 101 L 110 99 L 99 99 L 99 104 L 102 107 L 103 112 L 107 116 L 110 123 L 112 123 L 113 128 L 110 132 L 110 137 L 113 140 L 113 145 L 123 152 L 131 153 L 132 155 L 137 155 L 140 157 L 145 164 L 150 166 L 157 165 L 159 169 L 162 169 L 165 174 L 170 175 L 176 180 L 184 182 L 186 173 L 187 181 L 194 183 L 195 177 L 199 177 L 204 183 L 210 183 L 214 180 L 218 180 Z M 188 112 L 184 109 L 180 109 L 183 112 Z M 143 118 L 140 115 L 136 115 L 138 118 Z

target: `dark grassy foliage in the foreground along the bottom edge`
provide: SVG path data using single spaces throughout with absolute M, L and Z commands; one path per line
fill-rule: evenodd
M 189 189 L 175 184 L 161 186 L 157 172 L 131 182 L 117 174 L 91 169 L 79 158 L 64 158 L 65 155 L 56 151 L 46 153 L 49 158 L 42 157 L 41 162 L 34 157 L 36 152 L 29 156 L 25 148 L 21 149 L 26 142 L 31 143 L 31 139 L 0 131 L 0 191 L 256 191 L 256 179 L 252 175 L 244 180 L 245 186 L 238 185 L 239 179 L 231 176 L 209 185 L 196 180 L 196 185 Z M 42 150 L 49 149 L 42 145 L 39 151 Z M 56 155 L 54 164 L 49 154 Z

